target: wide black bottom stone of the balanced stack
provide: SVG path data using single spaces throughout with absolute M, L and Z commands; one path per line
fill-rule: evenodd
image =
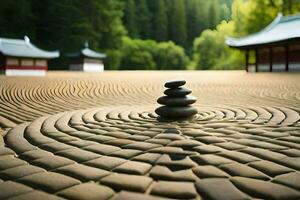
M 166 118 L 187 118 L 197 114 L 196 108 L 191 106 L 184 107 L 168 107 L 161 106 L 155 110 L 155 113 Z

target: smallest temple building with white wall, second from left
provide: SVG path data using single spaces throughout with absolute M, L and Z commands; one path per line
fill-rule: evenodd
M 85 43 L 85 48 L 79 52 L 68 53 L 70 58 L 70 70 L 84 71 L 84 72 L 103 72 L 106 54 L 98 53 L 89 48 L 88 42 Z

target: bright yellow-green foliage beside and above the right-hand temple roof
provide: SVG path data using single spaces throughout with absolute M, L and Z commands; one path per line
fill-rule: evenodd
M 222 21 L 216 29 L 207 29 L 194 40 L 192 67 L 195 69 L 242 69 L 244 56 L 225 44 L 228 36 L 240 37 L 260 31 L 279 12 L 300 12 L 299 0 L 234 0 L 231 21 Z

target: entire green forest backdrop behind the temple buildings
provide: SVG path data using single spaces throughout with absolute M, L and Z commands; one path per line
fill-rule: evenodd
M 1 0 L 0 37 L 47 50 L 105 52 L 108 70 L 242 69 L 224 43 L 268 25 L 300 0 Z M 67 69 L 62 56 L 50 69 Z

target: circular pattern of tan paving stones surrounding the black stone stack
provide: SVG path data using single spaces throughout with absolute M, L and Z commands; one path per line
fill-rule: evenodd
M 193 120 L 159 122 L 153 110 L 103 107 L 20 124 L 5 136 L 18 158 L 0 163 L 0 178 L 65 198 L 86 184 L 103 199 L 300 197 L 297 111 L 199 107 Z

